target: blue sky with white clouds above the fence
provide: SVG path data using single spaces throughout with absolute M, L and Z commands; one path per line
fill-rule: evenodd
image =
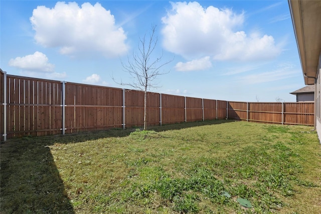
M 295 102 L 304 87 L 288 2 L 0 1 L 0 68 L 10 75 L 123 88 L 121 62 L 156 26 L 168 72 L 150 91 Z M 131 89 L 129 86 L 125 87 Z

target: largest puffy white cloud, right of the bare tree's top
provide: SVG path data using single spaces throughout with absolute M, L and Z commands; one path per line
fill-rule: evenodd
M 242 27 L 244 14 L 229 9 L 203 8 L 197 2 L 172 3 L 172 10 L 162 21 L 165 49 L 185 58 L 264 60 L 281 52 L 272 36 L 237 31 Z

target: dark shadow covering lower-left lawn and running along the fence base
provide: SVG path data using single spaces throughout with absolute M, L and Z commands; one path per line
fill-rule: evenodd
M 215 125 L 234 120 L 150 126 L 149 130 L 166 131 Z M 136 128 L 109 129 L 67 135 L 9 139 L 1 144 L 0 213 L 75 213 L 50 152 L 55 143 L 78 143 L 105 137 L 125 137 Z

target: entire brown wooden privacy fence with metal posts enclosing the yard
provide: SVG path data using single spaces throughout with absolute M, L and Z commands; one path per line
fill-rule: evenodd
M 1 140 L 143 125 L 144 93 L 0 72 Z M 244 103 L 147 93 L 147 124 L 227 119 L 313 125 L 313 103 Z

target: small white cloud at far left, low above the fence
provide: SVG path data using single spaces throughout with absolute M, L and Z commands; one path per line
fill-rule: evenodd
M 54 72 L 55 68 L 55 65 L 48 62 L 48 57 L 38 51 L 25 57 L 10 59 L 9 66 L 31 72 Z

